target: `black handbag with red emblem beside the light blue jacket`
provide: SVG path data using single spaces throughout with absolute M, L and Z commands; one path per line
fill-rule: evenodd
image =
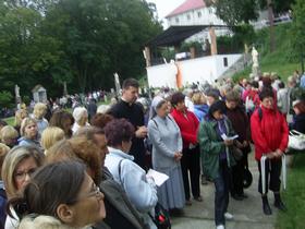
M 149 216 L 158 229 L 171 229 L 170 214 L 161 204 L 155 206 L 155 217 Z

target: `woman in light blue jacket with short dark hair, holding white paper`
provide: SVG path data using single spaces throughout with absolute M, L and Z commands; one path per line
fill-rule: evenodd
M 124 188 L 134 206 L 145 214 L 150 228 L 156 228 L 148 214 L 158 202 L 157 186 L 154 179 L 146 177 L 146 172 L 133 162 L 134 157 L 129 155 L 134 135 L 133 125 L 125 119 L 113 120 L 105 126 L 105 133 L 110 146 L 105 166 Z

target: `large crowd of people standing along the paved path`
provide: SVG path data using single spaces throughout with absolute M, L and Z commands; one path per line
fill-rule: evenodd
M 244 182 L 254 149 L 263 212 L 286 207 L 280 195 L 281 157 L 289 130 L 305 133 L 305 101 L 297 75 L 288 86 L 274 75 L 159 89 L 139 98 L 127 79 L 122 97 L 72 113 L 37 103 L 19 109 L 15 125 L 0 126 L 1 228 L 157 229 L 156 206 L 180 215 L 200 190 L 215 185 L 215 224 L 225 227 L 230 195 L 248 196 Z M 266 156 L 266 179 L 260 158 Z M 158 186 L 152 168 L 169 179 Z M 267 191 L 261 189 L 266 181 Z M 203 207 L 204 204 L 203 204 Z

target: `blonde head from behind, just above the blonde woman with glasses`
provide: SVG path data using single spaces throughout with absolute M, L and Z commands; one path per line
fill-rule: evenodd
M 47 154 L 48 149 L 57 142 L 64 138 L 64 132 L 58 126 L 48 126 L 41 134 L 41 146 Z

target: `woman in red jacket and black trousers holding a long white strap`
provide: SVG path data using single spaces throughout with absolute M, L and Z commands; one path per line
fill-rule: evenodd
M 270 174 L 269 189 L 274 194 L 274 206 L 281 210 L 286 210 L 286 207 L 280 197 L 280 174 L 282 160 L 288 146 L 289 129 L 284 117 L 274 108 L 274 94 L 271 88 L 264 88 L 259 98 L 260 107 L 253 113 L 251 118 L 252 138 L 255 145 L 255 159 L 259 169 L 258 191 L 263 198 L 263 209 L 266 215 L 271 215 L 271 208 L 268 203 L 268 178 Z M 261 168 L 260 158 L 266 155 L 266 193 L 261 189 Z

